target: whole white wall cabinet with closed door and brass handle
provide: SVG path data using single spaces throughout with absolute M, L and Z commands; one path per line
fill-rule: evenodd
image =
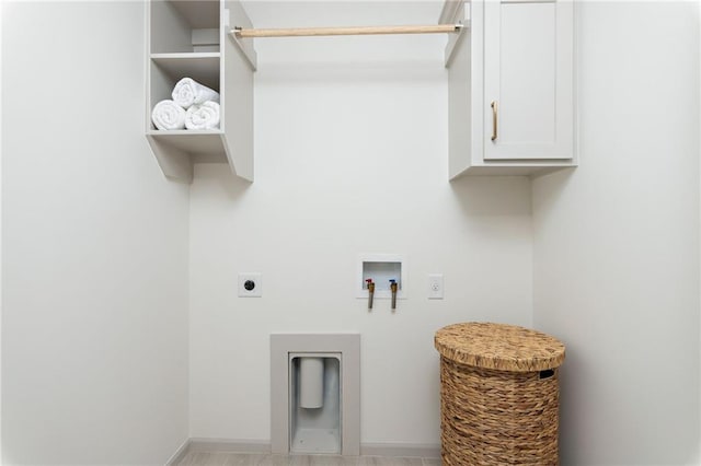
M 450 177 L 576 165 L 572 1 L 449 0 Z

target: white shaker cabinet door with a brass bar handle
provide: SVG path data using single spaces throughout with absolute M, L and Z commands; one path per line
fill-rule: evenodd
M 572 1 L 484 3 L 484 159 L 573 156 Z

